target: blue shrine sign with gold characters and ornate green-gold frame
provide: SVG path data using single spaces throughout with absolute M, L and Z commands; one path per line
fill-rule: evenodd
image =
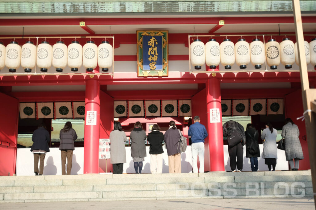
M 137 31 L 137 76 L 168 76 L 168 31 Z

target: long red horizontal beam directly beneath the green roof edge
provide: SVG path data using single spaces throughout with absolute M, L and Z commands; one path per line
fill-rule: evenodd
M 219 18 L 87 18 L 87 19 L 2 19 L 0 26 L 71 26 L 85 21 L 87 25 L 170 25 L 217 24 Z M 294 23 L 293 17 L 226 17 L 227 24 Z M 302 17 L 303 23 L 315 23 L 316 16 Z

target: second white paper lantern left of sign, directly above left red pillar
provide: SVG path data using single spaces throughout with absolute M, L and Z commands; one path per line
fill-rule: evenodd
M 94 44 L 94 41 L 88 40 L 83 45 L 83 57 L 82 64 L 87 71 L 93 71 L 98 65 L 98 46 Z

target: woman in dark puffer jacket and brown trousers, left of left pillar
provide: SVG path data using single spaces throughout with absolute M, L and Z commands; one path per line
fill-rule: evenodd
M 70 175 L 72 153 L 75 150 L 74 141 L 78 138 L 76 131 L 72 129 L 71 122 L 66 122 L 63 129 L 59 132 L 61 152 L 61 174 L 66 175 L 66 157 L 67 157 L 67 175 Z

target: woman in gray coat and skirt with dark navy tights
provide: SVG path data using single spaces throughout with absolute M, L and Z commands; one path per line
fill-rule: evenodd
M 143 125 L 140 122 L 135 122 L 134 130 L 131 131 L 131 156 L 134 161 L 135 173 L 142 173 L 143 161 L 146 157 L 145 140 L 146 132 L 143 130 Z M 139 172 L 137 172 L 137 168 Z

